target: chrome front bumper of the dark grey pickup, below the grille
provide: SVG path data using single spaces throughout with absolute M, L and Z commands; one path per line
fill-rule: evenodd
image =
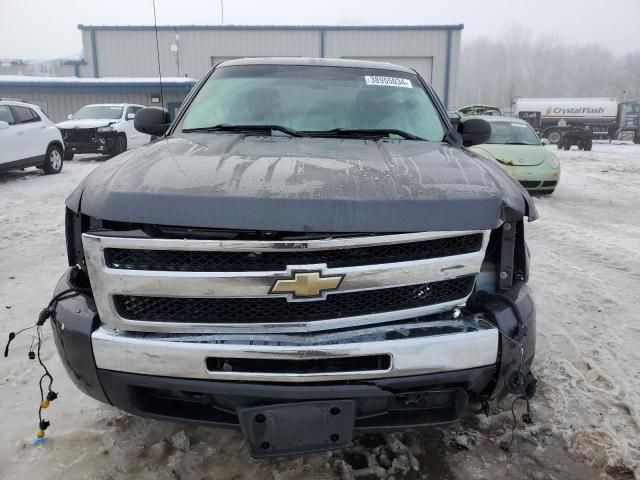
M 459 333 L 439 333 L 458 328 Z M 440 329 L 440 330 L 438 330 Z M 399 339 L 388 339 L 399 338 Z M 372 327 L 337 334 L 158 335 L 124 333 L 101 327 L 92 334 L 99 369 L 190 379 L 258 382 L 318 382 L 443 373 L 497 362 L 498 330 L 478 321 L 431 321 Z M 388 355 L 385 370 L 279 373 L 210 371 L 208 357 L 311 360 Z

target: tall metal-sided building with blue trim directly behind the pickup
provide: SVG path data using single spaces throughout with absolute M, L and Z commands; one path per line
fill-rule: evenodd
M 79 25 L 81 76 L 158 75 L 153 26 Z M 328 57 L 415 68 L 445 104 L 454 103 L 462 25 L 158 27 L 163 76 L 200 78 L 211 66 L 242 57 Z

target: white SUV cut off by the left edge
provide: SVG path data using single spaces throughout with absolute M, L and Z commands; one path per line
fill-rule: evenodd
M 62 136 L 38 105 L 0 98 L 0 170 L 60 173 L 63 156 Z

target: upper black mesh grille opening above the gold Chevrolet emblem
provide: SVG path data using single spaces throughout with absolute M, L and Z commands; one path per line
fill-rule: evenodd
M 419 242 L 335 250 L 295 252 L 232 252 L 152 249 L 105 249 L 109 268 L 179 272 L 282 271 L 287 265 L 326 263 L 329 268 L 409 262 L 477 252 L 482 234 L 436 238 Z

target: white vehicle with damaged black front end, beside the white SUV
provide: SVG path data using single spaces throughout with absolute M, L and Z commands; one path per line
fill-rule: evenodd
M 136 112 L 143 105 L 128 103 L 86 105 L 69 120 L 56 124 L 62 132 L 65 160 L 76 153 L 101 153 L 115 157 L 127 148 L 149 142 L 149 135 L 133 128 Z

